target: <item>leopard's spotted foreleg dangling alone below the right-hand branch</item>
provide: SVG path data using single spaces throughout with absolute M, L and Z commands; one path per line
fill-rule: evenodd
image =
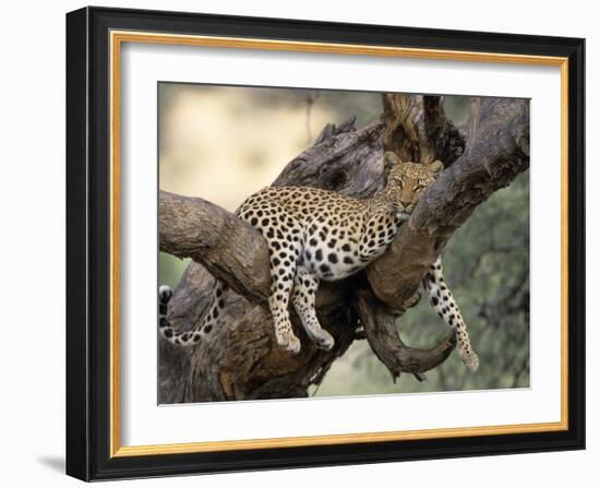
M 431 305 L 440 318 L 456 331 L 458 354 L 463 362 L 465 362 L 468 368 L 476 370 L 479 367 L 479 358 L 471 348 L 469 334 L 467 333 L 467 324 L 460 314 L 458 305 L 444 282 L 441 258 L 437 258 L 431 265 L 430 271 L 423 279 L 423 285 L 429 291 Z

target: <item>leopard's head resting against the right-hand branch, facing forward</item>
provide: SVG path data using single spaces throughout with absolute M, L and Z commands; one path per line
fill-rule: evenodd
M 407 221 L 424 189 L 444 170 L 444 164 L 441 160 L 405 163 L 392 151 L 384 154 L 383 162 L 387 170 L 387 198 L 397 204 L 400 219 Z

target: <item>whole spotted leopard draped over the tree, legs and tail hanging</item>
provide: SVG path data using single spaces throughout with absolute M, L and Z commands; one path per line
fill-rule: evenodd
M 272 278 L 268 308 L 281 348 L 292 354 L 301 348 L 291 326 L 290 301 L 314 345 L 324 350 L 334 346 L 334 337 L 321 326 L 315 311 L 320 283 L 351 276 L 384 254 L 424 190 L 444 170 L 441 160 L 403 162 L 392 151 L 384 153 L 383 167 L 387 175 L 384 188 L 369 198 L 312 187 L 265 187 L 236 211 L 266 240 Z M 421 285 L 437 316 L 455 331 L 463 362 L 476 370 L 479 359 L 460 309 L 444 281 L 440 255 Z M 183 332 L 177 331 L 167 317 L 172 289 L 160 286 L 160 335 L 178 346 L 200 344 L 219 324 L 226 290 L 227 285 L 217 281 L 205 317 L 193 330 Z

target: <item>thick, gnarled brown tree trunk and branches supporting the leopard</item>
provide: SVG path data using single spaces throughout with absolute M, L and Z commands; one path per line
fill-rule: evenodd
M 257 230 L 202 199 L 161 192 L 160 249 L 194 260 L 172 300 L 175 326 L 189 330 L 201 319 L 213 276 L 230 290 L 223 325 L 201 347 L 183 349 L 160 341 L 159 401 L 305 396 L 351 343 L 363 337 L 394 378 L 406 371 L 422 379 L 423 371 L 443 362 L 455 345 L 452 334 L 431 349 L 410 348 L 399 338 L 395 318 L 452 233 L 529 162 L 527 102 L 484 99 L 477 123 L 469 127 L 477 127 L 477 136 L 454 128 L 440 97 L 384 95 L 381 122 L 363 129 L 356 129 L 353 120 L 327 126 L 274 181 L 368 198 L 383 186 L 384 150 L 421 163 L 440 158 L 449 167 L 380 260 L 365 273 L 320 287 L 319 319 L 336 340 L 329 352 L 313 346 L 293 312 L 302 349 L 295 356 L 277 346 L 266 308 L 267 249 Z

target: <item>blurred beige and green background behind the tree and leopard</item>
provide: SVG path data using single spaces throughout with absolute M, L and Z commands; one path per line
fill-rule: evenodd
M 469 98 L 445 96 L 455 124 L 467 121 Z M 357 127 L 379 119 L 381 94 L 160 83 L 159 187 L 202 197 L 229 211 L 268 186 L 312 144 L 328 122 L 357 116 Z M 493 224 L 493 225 L 491 225 Z M 443 253 L 480 368 L 469 372 L 457 354 L 419 383 L 396 383 L 365 341 L 356 341 L 315 396 L 411 393 L 529 386 L 529 172 L 494 193 L 459 228 Z M 159 255 L 159 283 L 175 287 L 188 265 Z M 397 323 L 403 341 L 431 347 L 446 326 L 422 299 Z

